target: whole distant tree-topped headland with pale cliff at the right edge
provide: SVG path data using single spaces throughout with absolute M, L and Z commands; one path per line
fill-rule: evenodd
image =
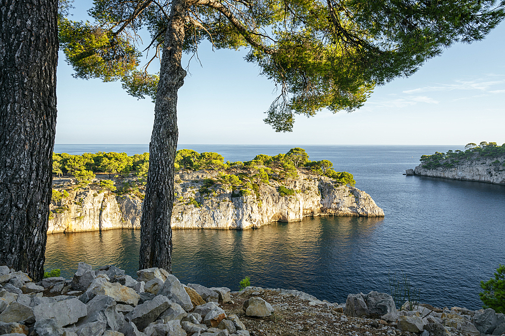
M 505 184 L 505 144 L 468 144 L 465 152 L 436 152 L 423 155 L 421 161 L 413 172 L 408 169 L 407 174 Z

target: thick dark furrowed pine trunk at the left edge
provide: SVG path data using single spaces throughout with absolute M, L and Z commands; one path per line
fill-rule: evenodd
M 0 4 L 0 265 L 44 273 L 56 133 L 58 1 Z

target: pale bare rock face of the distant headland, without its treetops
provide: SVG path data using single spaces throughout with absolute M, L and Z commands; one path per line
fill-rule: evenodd
M 425 164 L 420 164 L 414 170 L 414 175 L 441 177 L 453 180 L 479 181 L 494 184 L 505 184 L 505 156 L 482 157 L 473 155 L 461 160 L 456 164 L 447 164 L 450 159 L 440 161 L 441 166 L 428 168 Z M 409 174 L 409 172 L 407 172 Z

